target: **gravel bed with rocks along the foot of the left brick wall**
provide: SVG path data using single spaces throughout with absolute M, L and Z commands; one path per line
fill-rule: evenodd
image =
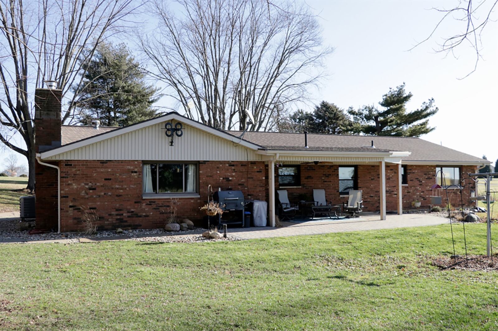
M 116 231 L 99 231 L 94 235 L 86 235 L 82 233 L 62 233 L 56 232 L 30 235 L 28 231 L 19 230 L 19 220 L 4 220 L 0 222 L 0 243 L 23 243 L 31 241 L 47 241 L 47 240 L 65 240 L 65 243 L 79 243 L 80 238 L 89 239 L 116 239 L 116 237 L 129 237 L 126 240 L 134 240 L 138 242 L 161 242 L 161 243 L 199 243 L 213 241 L 231 241 L 238 240 L 236 237 L 228 236 L 221 239 L 206 239 L 202 237 L 205 229 L 196 228 L 194 230 L 178 231 L 174 234 L 166 232 L 163 229 L 137 229 L 124 230 L 122 233 Z

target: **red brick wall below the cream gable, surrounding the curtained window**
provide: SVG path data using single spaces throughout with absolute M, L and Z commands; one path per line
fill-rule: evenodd
M 95 210 L 99 230 L 162 228 L 172 200 L 142 198 L 140 161 L 61 161 L 61 231 L 82 227 L 82 207 Z M 200 162 L 200 197 L 178 198 L 177 214 L 200 221 L 207 188 L 242 190 L 246 198 L 263 200 L 263 162 Z

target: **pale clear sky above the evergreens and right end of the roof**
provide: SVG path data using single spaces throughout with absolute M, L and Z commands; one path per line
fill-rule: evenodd
M 498 124 L 498 23 L 490 22 L 482 36 L 484 59 L 477 71 L 458 80 L 474 67 L 475 53 L 467 45 L 451 55 L 435 54 L 442 37 L 460 30 L 448 20 L 425 44 L 423 40 L 440 18 L 431 7 L 450 7 L 458 1 L 355 1 L 308 0 L 320 15 L 326 44 L 336 48 L 327 60 L 330 77 L 310 91 L 315 101 L 326 100 L 340 107 L 359 107 L 380 100 L 389 87 L 403 82 L 413 93 L 409 109 L 430 97 L 439 113 L 431 118 L 436 130 L 423 139 L 495 162 L 498 158 L 495 132 Z M 493 17 L 496 19 L 497 14 Z M 166 100 L 159 101 L 166 102 Z M 311 106 L 307 110 L 311 110 Z M 7 152 L 8 153 L 8 152 Z M 5 157 L 0 151 L 0 160 Z M 19 161 L 25 159 L 19 156 Z

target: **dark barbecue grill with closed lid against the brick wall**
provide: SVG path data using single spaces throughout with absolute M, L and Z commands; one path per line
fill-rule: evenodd
M 218 215 L 218 226 L 221 224 L 241 224 L 244 226 L 244 194 L 242 191 L 216 191 L 213 200 L 220 204 L 223 210 L 223 222 Z

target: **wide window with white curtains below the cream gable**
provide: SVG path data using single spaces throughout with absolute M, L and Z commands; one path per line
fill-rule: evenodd
M 195 163 L 144 163 L 144 194 L 197 193 L 198 165 Z

